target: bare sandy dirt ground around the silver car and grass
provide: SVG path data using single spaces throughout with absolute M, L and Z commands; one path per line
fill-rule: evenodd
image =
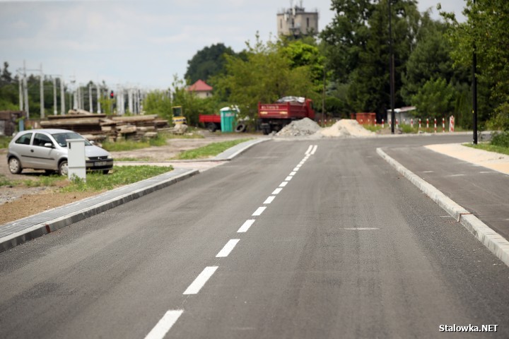
M 210 133 L 209 131 L 201 131 L 204 138 L 184 139 L 175 138 L 168 139 L 167 145 L 160 147 L 143 148 L 141 150 L 129 150 L 122 152 L 112 152 L 113 159 L 120 158 L 140 158 L 143 160 L 163 161 L 175 157 L 178 153 L 184 150 L 191 150 L 199 148 L 209 143 L 217 143 L 220 141 L 228 141 L 238 138 L 250 138 L 257 135 L 247 133 Z M 0 174 L 3 174 L 8 179 L 23 180 L 32 179 L 37 180 L 37 177 L 45 175 L 44 171 L 35 171 L 33 169 L 23 169 L 21 174 L 11 174 L 7 167 L 7 150 L 0 149 Z M 65 179 L 62 184 L 65 183 Z M 51 208 L 63 206 L 66 203 L 79 201 L 89 196 L 94 196 L 102 192 L 76 192 L 76 193 L 61 193 L 58 191 L 58 186 L 48 187 L 25 187 L 16 186 L 0 187 L 0 225 L 18 220 L 21 218 L 34 215 L 36 213 L 49 210 Z

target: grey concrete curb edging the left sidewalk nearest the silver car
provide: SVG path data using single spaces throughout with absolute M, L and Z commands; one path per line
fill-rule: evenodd
M 136 198 L 149 194 L 153 191 L 157 191 L 158 189 L 163 189 L 166 186 L 170 186 L 177 182 L 180 182 L 184 179 L 194 176 L 198 174 L 199 171 L 197 169 L 189 169 L 182 174 L 178 174 L 175 177 L 171 177 L 169 179 L 165 179 L 161 182 L 157 182 L 156 184 L 151 184 L 141 189 L 136 189 L 134 191 L 130 191 L 126 194 L 121 194 L 116 196 L 115 198 L 110 198 L 108 201 L 102 201 L 100 203 L 95 204 L 94 206 L 90 206 L 88 208 L 83 208 L 82 210 L 78 210 L 69 214 L 66 214 L 60 218 L 54 218 L 53 220 L 49 220 L 47 222 L 42 222 L 37 225 L 33 225 L 25 230 L 20 232 L 16 232 L 10 234 L 6 237 L 0 238 L 0 251 L 6 251 L 7 249 L 11 249 L 14 246 L 19 244 L 23 244 L 23 242 L 28 242 L 30 239 L 35 239 L 37 237 L 41 237 L 42 235 L 54 232 L 59 230 L 62 227 L 69 226 L 74 222 L 78 222 L 80 220 L 89 218 L 93 215 L 97 215 L 99 213 L 104 212 L 105 210 L 109 210 L 110 208 L 114 208 L 116 206 L 122 205 L 123 203 L 127 203 Z M 165 174 L 161 174 L 165 175 Z M 153 180 L 153 178 L 146 179 Z M 146 181 L 144 180 L 144 181 Z M 142 182 L 144 182 L 142 181 Z M 140 182 L 136 182 L 134 184 L 139 184 Z M 131 184 L 131 185 L 134 185 Z M 130 185 L 122 186 L 119 189 L 125 190 L 128 189 Z M 115 190 L 113 190 L 115 191 Z M 109 193 L 111 191 L 105 192 Z M 95 198 L 95 197 L 91 197 Z M 86 200 L 86 199 L 85 199 Z M 63 207 L 63 206 L 61 206 Z M 30 217 L 28 217 L 30 218 Z

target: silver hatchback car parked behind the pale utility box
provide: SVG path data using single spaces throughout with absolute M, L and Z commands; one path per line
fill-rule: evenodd
M 23 168 L 45 169 L 52 173 L 67 175 L 68 139 L 85 139 L 66 129 L 31 129 L 19 132 L 8 145 L 7 163 L 13 174 Z M 113 158 L 107 150 L 85 139 L 86 169 L 103 171 L 113 167 Z

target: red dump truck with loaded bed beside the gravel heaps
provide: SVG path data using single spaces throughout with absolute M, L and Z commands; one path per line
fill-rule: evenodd
M 258 103 L 259 126 L 264 134 L 280 131 L 298 119 L 315 119 L 312 100 L 304 97 L 283 97 L 274 104 Z

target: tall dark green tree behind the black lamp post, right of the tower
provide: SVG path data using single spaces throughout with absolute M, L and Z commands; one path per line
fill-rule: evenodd
M 384 117 L 390 102 L 387 0 L 334 0 L 336 16 L 322 32 L 334 80 L 349 83 L 349 105 Z M 416 1 L 391 0 L 396 105 L 404 105 L 402 73 L 419 32 Z

